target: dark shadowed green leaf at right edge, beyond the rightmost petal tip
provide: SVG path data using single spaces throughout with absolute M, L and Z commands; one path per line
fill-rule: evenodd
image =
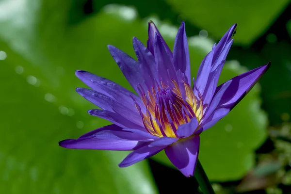
M 261 79 L 264 108 L 273 125 L 290 121 L 291 115 L 291 46 L 287 42 L 267 44 L 261 51 L 272 66 Z

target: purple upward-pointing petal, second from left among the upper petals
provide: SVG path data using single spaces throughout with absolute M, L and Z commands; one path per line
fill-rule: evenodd
M 148 89 L 151 89 L 156 84 L 155 80 L 159 79 L 155 58 L 143 43 L 135 37 L 133 38 L 133 48 L 146 85 L 150 86 Z

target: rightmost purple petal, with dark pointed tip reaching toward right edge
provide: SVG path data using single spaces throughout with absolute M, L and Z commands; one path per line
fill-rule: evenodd
M 217 121 L 226 116 L 231 109 L 233 109 L 242 98 L 251 90 L 251 88 L 257 83 L 259 78 L 268 70 L 271 63 L 267 65 L 260 66 L 256 69 L 243 73 L 242 75 L 236 76 L 231 79 L 231 83 L 227 81 L 224 84 L 221 84 L 216 88 L 214 98 L 221 95 L 222 97 L 218 102 L 216 107 L 211 108 L 212 113 L 208 113 L 210 116 L 203 120 L 201 129 L 197 130 L 197 133 L 200 133 L 206 129 L 212 127 Z M 219 99 L 219 98 L 218 98 Z M 211 111 L 210 109 L 208 111 Z

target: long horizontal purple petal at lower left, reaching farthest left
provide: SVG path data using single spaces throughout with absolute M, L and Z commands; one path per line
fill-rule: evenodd
M 59 142 L 59 146 L 71 149 L 99 149 L 99 150 L 135 150 L 148 143 L 139 141 L 128 141 L 122 139 L 99 139 L 96 137 L 98 132 L 111 130 L 113 133 L 121 130 L 116 125 L 109 125 L 100 129 L 93 130 L 79 137 L 78 139 L 67 139 Z M 126 132 L 125 132 L 126 133 Z M 132 134 L 129 134 L 129 136 Z

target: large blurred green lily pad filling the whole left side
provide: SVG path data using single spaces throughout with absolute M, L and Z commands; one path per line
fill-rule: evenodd
M 105 12 L 70 25 L 70 3 L 0 3 L 0 50 L 7 54 L 0 61 L 0 193 L 156 193 L 146 162 L 118 167 L 129 152 L 58 146 L 60 140 L 109 124 L 86 113 L 94 106 L 76 94 L 74 88 L 84 84 L 74 70 L 128 86 L 107 44 L 127 51 L 132 36 L 146 38 L 146 25 L 139 20 Z

